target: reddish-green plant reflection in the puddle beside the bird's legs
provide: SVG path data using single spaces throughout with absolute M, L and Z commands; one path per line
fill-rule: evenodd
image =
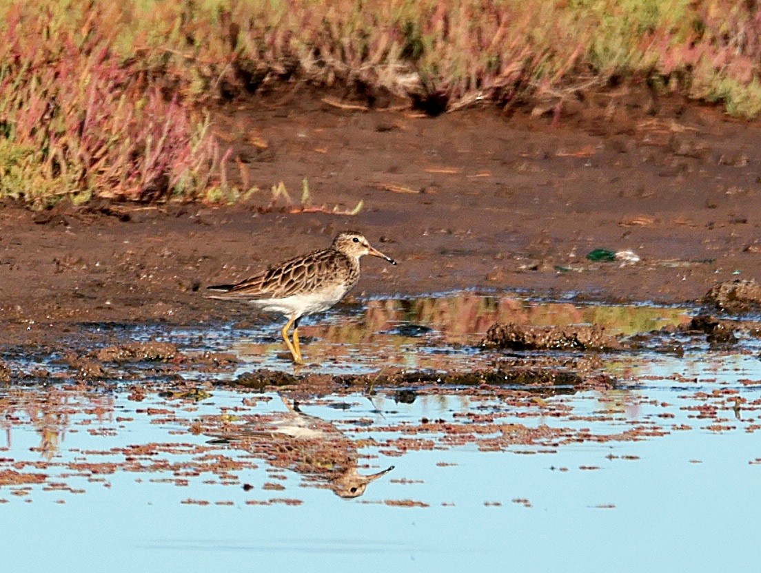
M 300 328 L 310 337 L 308 362 L 333 362 L 346 369 L 398 366 L 416 369 L 470 369 L 482 337 L 495 322 L 536 326 L 600 324 L 610 334 L 629 336 L 689 321 L 686 309 L 645 305 L 578 305 L 537 302 L 515 296 L 457 293 L 417 299 L 370 300 L 357 315 L 333 313 Z M 279 344 L 236 340 L 243 359 L 262 363 Z M 272 365 L 274 366 L 274 365 Z

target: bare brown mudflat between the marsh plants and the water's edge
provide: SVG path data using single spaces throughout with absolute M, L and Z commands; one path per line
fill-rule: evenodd
M 490 108 L 429 118 L 306 93 L 221 109 L 215 130 L 238 157 L 231 182 L 263 188 L 243 203 L 2 208 L 6 342 L 44 340 L 72 321 L 244 318 L 204 287 L 345 229 L 400 263 L 365 260 L 355 295 L 475 287 L 683 302 L 737 273 L 759 276 L 759 123 L 648 98 L 600 94 L 560 117 Z M 364 208 L 268 208 L 280 181 L 298 203 L 304 178 L 313 206 Z M 585 261 L 597 248 L 642 261 Z

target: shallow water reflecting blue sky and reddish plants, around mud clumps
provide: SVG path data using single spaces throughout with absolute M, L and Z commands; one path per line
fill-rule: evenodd
M 336 312 L 307 324 L 305 353 L 320 372 L 389 360 L 483 366 L 500 356 L 475 347 L 495 317 L 613 316 L 610 328 L 634 334 L 689 315 L 478 298 Z M 88 328 L 84 338 L 97 340 L 100 327 Z M 0 387 L 9 570 L 737 571 L 761 561 L 754 339 L 722 349 L 696 340 L 680 357 L 603 354 L 598 368 L 616 388 L 566 394 L 441 385 L 278 394 L 206 383 L 255 363 L 290 369 L 266 340 L 273 331 L 252 327 L 234 342 L 226 327 L 178 329 L 165 336 L 180 348 L 232 348 L 244 363 L 224 372 L 141 363 L 125 370 L 134 379 L 103 384 L 75 379 L 53 354 L 25 366 L 5 356 L 57 376 Z M 342 366 L 349 359 L 353 370 Z M 357 475 L 390 466 L 345 499 Z

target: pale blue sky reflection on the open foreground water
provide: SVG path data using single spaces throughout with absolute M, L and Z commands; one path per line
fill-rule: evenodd
M 740 362 L 743 376 L 758 378 L 757 368 L 749 372 L 749 360 Z M 635 369 L 643 377 L 661 380 L 675 373 L 697 373 L 715 378 L 698 383 L 702 391 L 737 389 L 749 402 L 759 400 L 757 386 L 737 385 L 734 369 L 717 372 L 710 364 L 705 365 L 708 368 L 701 364 L 696 357 L 648 356 Z M 380 455 L 370 463 L 393 464 L 396 469 L 354 501 L 339 499 L 326 489 L 301 487 L 301 476 L 288 470 L 280 474 L 286 479 L 279 480 L 285 491 L 265 491 L 263 483 L 274 481 L 272 476 L 279 472 L 268 469 L 262 460 L 256 461 L 257 469 L 240 472 L 241 483 L 254 485 L 249 492 L 240 484 L 221 485 L 209 473 L 191 478 L 188 486 L 177 486 L 151 481 L 171 478 L 171 472 L 142 475 L 118 470 L 103 476 L 102 483 L 87 478 L 60 480 L 84 489 L 80 494 L 32 486 L 29 495 L 16 496 L 8 495 L 14 488 L 5 486 L 0 491 L 9 501 L 0 511 L 5 513 L 5 523 L 13 524 L 2 536 L 10 551 L 6 555 L 11 556 L 14 571 L 49 570 L 52 563 L 57 571 L 83 567 L 208 571 L 265 564 L 272 571 L 349 567 L 415 571 L 421 565 L 444 570 L 500 566 L 523 571 L 731 571 L 757 565 L 759 558 L 750 548 L 755 541 L 752 524 L 761 509 L 756 495 L 761 467 L 750 462 L 761 457 L 761 444 L 755 433 L 747 431 L 756 423 L 756 412 L 748 411 L 743 414 L 747 419 L 740 421 L 731 410 L 725 411 L 722 417 L 734 429 L 717 432 L 706 429 L 714 423 L 712 419 L 699 421 L 689 417 L 693 412 L 681 409 L 699 403 L 690 396 L 692 390 L 673 390 L 648 380 L 637 390 L 611 392 L 547 398 L 571 407 L 573 415 L 604 413 L 598 421 L 559 418 L 538 423 L 587 427 L 594 435 L 616 434 L 638 422 L 658 422 L 659 428 L 667 430 L 689 424 L 692 429 L 671 430 L 638 442 L 580 442 L 560 446 L 551 454 L 515 454 L 531 449 L 520 446 L 484 452 L 473 444 L 453 448 L 439 444 L 441 449 L 409 451 L 401 457 Z M 237 405 L 240 400 L 236 391 L 216 389 L 212 398 L 204 400 L 208 404 L 194 405 L 191 410 L 198 410 L 179 416 L 189 425 L 198 416 L 216 415 L 221 406 Z M 613 419 L 606 419 L 610 402 L 605 400 L 618 400 Z M 415 424 L 434 416 L 452 420 L 454 413 L 476 406 L 491 411 L 500 408 L 498 400 L 479 397 L 473 402 L 462 396 L 419 396 L 413 404 L 395 404 L 382 397 L 372 404 L 353 395 L 333 401 L 343 401 L 349 408 L 305 404 L 304 410 L 333 420 L 342 430 L 356 429 L 352 420 L 370 419 L 368 427 L 351 432 L 352 438 L 374 435 L 379 441 L 384 436 L 374 432 L 375 426 Z M 672 406 L 661 407 L 661 403 Z M 136 413 L 151 404 L 167 407 L 158 397 L 146 404 L 129 402 L 121 392 L 113 394 L 114 413 L 99 423 L 114 429 L 115 435 L 78 428 L 79 422 L 92 420 L 92 414 L 72 413 L 71 427 L 53 462 L 65 464 L 89 449 L 150 442 L 205 444 L 205 436 L 187 434 L 180 423 L 151 423 L 151 416 Z M 92 410 L 92 401 L 82 400 L 81 405 Z M 254 410 L 273 408 L 283 409 L 276 397 Z M 664 412 L 674 417 L 656 417 Z M 133 420 L 116 423 L 117 413 Z M 501 421 L 526 421 L 513 413 L 505 409 Z M 2 456 L 39 461 L 43 452 L 30 451 L 39 445 L 39 426 L 14 424 L 11 447 Z M 377 448 L 361 449 L 377 454 Z M 210 476 L 215 483 L 203 483 Z M 183 504 L 189 498 L 210 505 Z M 246 504 L 272 498 L 303 503 L 293 507 Z M 429 507 L 383 505 L 387 499 L 411 499 Z

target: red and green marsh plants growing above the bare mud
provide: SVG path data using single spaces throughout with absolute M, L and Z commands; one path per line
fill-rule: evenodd
M 296 82 L 438 113 L 629 81 L 761 112 L 756 2 L 6 0 L 0 33 L 0 196 L 40 207 L 246 195 L 199 109 Z

